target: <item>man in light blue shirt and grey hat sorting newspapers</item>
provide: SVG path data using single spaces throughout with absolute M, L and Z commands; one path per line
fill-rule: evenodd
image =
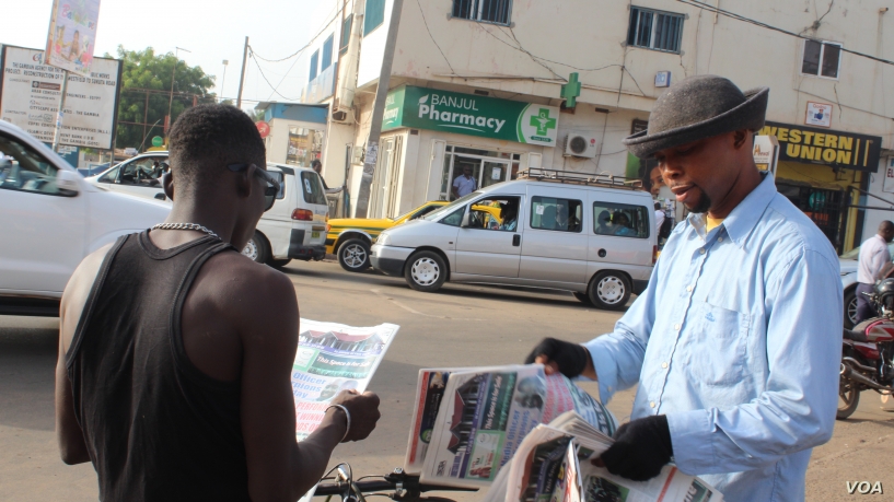
M 767 93 L 700 75 L 659 97 L 649 130 L 625 143 L 659 161 L 692 214 L 614 332 L 546 339 L 529 357 L 596 378 L 603 402 L 639 384 L 631 421 L 601 457 L 609 471 L 649 479 L 673 462 L 728 502 L 804 500 L 838 399 L 838 260 L 755 167 Z

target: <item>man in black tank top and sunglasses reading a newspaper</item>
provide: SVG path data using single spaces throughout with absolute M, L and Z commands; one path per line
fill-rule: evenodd
M 276 191 L 264 142 L 242 110 L 202 105 L 170 154 L 165 224 L 88 256 L 62 296 L 62 460 L 92 462 L 104 501 L 297 500 L 372 432 L 379 397 L 342 393 L 295 441 L 294 287 L 239 253 Z

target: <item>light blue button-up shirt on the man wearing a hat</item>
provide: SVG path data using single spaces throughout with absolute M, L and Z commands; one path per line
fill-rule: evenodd
M 705 223 L 674 229 L 615 331 L 585 343 L 600 397 L 639 383 L 631 419 L 665 415 L 677 467 L 728 502 L 803 500 L 838 406 L 838 258 L 769 176 Z

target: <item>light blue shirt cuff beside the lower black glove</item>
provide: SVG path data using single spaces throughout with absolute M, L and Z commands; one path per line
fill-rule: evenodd
M 674 463 L 683 472 L 698 476 L 717 465 L 712 444 L 711 412 L 692 410 L 667 413 Z

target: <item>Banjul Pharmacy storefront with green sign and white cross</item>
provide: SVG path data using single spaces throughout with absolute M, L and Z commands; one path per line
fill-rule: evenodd
M 402 85 L 388 93 L 370 214 L 395 217 L 426 200 L 453 200 L 468 167 L 475 188 L 541 166 L 557 143 L 559 108 Z

